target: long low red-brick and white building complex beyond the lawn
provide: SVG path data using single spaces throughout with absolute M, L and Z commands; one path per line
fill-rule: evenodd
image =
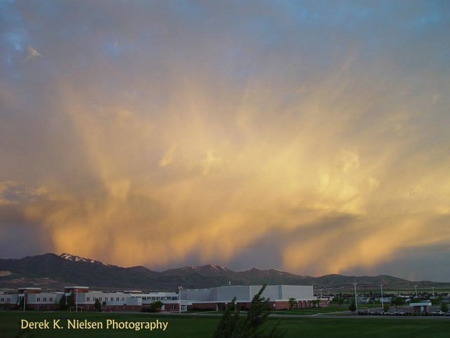
M 72 299 L 70 311 L 94 311 L 95 303 L 101 304 L 102 311 L 141 311 L 155 301 L 161 301 L 162 311 L 188 311 L 190 309 L 221 310 L 236 297 L 236 306 L 248 308 L 253 296 L 259 292 L 261 285 L 233 285 L 212 287 L 210 289 L 180 289 L 176 292 L 103 292 L 91 291 L 89 287 L 69 286 L 64 292 L 42 292 L 37 287 L 19 288 L 17 294 L 0 294 L 1 308 L 18 308 L 24 306 L 36 310 L 55 310 L 62 298 L 65 304 Z M 294 308 L 326 306 L 327 299 L 317 299 L 312 286 L 304 285 L 267 285 L 262 294 L 270 299 L 271 309 L 290 308 L 290 299 Z

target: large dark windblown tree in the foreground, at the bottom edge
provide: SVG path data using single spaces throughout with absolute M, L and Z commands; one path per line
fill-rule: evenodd
M 257 294 L 252 299 L 252 303 L 246 316 L 240 315 L 240 310 L 234 314 L 236 305 L 236 297 L 228 304 L 224 315 L 217 325 L 214 332 L 214 338 L 281 338 L 285 335 L 285 331 L 280 330 L 277 323 L 272 327 L 268 334 L 261 330 L 261 327 L 266 323 L 269 317 L 270 306 L 269 299 L 262 296 L 266 284 L 262 286 Z

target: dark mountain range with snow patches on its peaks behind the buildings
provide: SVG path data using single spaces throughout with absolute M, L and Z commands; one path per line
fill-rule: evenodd
M 153 271 L 143 266 L 122 268 L 90 258 L 63 253 L 45 253 L 21 259 L 0 258 L 0 289 L 17 287 L 41 287 L 62 289 L 67 285 L 85 285 L 91 289 L 141 289 L 145 291 L 176 290 L 180 285 L 186 288 L 207 288 L 220 285 L 248 284 L 303 284 L 323 289 L 350 289 L 357 282 L 359 288 L 378 289 L 380 284 L 391 289 L 413 289 L 427 285 L 448 286 L 448 283 L 430 281 L 411 282 L 390 275 L 345 276 L 324 275 L 310 277 L 294 275 L 275 269 L 233 271 L 221 265 L 188 265 L 184 268 Z

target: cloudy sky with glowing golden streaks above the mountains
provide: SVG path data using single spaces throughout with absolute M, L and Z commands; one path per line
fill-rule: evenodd
M 450 282 L 449 1 L 0 15 L 0 257 Z

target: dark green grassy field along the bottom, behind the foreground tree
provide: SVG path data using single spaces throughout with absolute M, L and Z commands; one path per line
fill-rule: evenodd
M 42 313 L 42 312 L 0 312 L 0 337 L 18 337 L 20 320 L 44 320 L 50 322 L 62 319 L 65 326 L 66 319 L 87 319 L 101 321 L 107 319 L 117 321 L 155 321 L 167 322 L 167 329 L 161 330 L 32 330 L 34 338 L 75 338 L 75 337 L 198 337 L 211 338 L 219 316 L 194 315 L 149 315 L 149 314 L 122 314 L 122 313 Z M 274 325 L 278 319 L 269 320 L 268 325 Z M 50 324 L 51 326 L 52 324 Z M 450 320 L 439 319 L 405 319 L 405 318 L 283 318 L 281 328 L 287 330 L 285 338 L 294 337 L 449 337 Z

